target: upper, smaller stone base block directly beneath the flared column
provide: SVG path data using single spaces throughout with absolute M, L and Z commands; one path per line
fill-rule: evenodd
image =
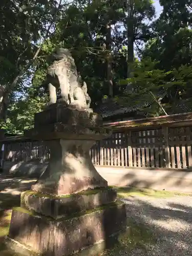
M 20 206 L 34 210 L 41 215 L 59 219 L 70 216 L 74 212 L 113 203 L 116 201 L 116 196 L 116 191 L 110 187 L 90 189 L 60 197 L 51 197 L 29 190 L 22 193 Z

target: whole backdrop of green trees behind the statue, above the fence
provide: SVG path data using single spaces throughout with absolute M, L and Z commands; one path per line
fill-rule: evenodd
M 163 11 L 152 22 L 155 8 L 151 0 L 130 0 L 129 5 L 124 0 L 113 4 L 78 0 L 64 3 L 59 10 L 54 0 L 26 0 L 25 4 L 2 0 L 0 98 L 18 73 L 33 64 L 14 90 L 8 90 L 8 119 L 3 127 L 19 134 L 32 127 L 34 113 L 47 101 L 46 70 L 58 45 L 71 50 L 88 84 L 92 107 L 110 98 L 111 79 L 115 100 L 137 106 L 147 115 L 184 111 L 177 109 L 181 102 L 190 110 L 192 1 L 161 0 L 160 4 Z M 55 11 L 49 37 L 31 62 Z M 1 108 L 2 102 L 0 116 Z

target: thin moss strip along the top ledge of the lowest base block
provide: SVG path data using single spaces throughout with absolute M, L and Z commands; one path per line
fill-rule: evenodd
M 24 214 L 28 214 L 30 216 L 38 216 L 38 217 L 41 217 L 41 218 L 46 219 L 48 221 L 60 222 L 60 221 L 71 220 L 73 218 L 79 218 L 79 217 L 81 217 L 83 215 L 92 214 L 93 212 L 96 212 L 96 211 L 101 211 L 101 210 L 112 208 L 112 207 L 119 207 L 119 206 L 121 206 L 123 204 L 124 203 L 122 201 L 118 200 L 116 202 L 113 202 L 113 203 L 110 203 L 110 204 L 106 204 L 106 205 L 102 205 L 102 206 L 94 208 L 94 209 L 84 210 L 84 211 L 80 211 L 80 212 L 74 212 L 74 214 L 72 214 L 70 216 L 62 217 L 62 218 L 57 219 L 57 220 L 55 220 L 55 219 L 53 219 L 51 217 L 47 217 L 47 216 L 36 214 L 35 211 L 28 210 L 28 209 L 26 209 L 24 207 L 15 207 L 15 208 L 13 208 L 13 210 L 17 210 L 17 211 L 23 212 Z

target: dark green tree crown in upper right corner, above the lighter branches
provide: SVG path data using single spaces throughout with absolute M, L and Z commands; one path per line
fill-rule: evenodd
M 153 24 L 154 38 L 148 41 L 143 56 L 160 61 L 159 67 L 178 68 L 191 61 L 192 1 L 160 1 L 163 11 Z

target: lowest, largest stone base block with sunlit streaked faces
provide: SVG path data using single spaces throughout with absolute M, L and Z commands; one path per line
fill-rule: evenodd
M 13 209 L 9 238 L 45 256 L 63 256 L 104 241 L 126 227 L 125 205 L 118 201 L 70 219 L 53 220 L 22 207 Z

